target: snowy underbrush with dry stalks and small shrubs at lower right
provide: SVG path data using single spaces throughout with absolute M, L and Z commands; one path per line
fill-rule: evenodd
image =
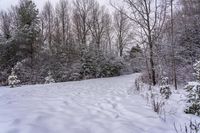
M 186 114 L 187 111 L 190 111 L 190 114 L 198 116 L 198 112 L 200 111 L 199 108 L 192 109 L 194 104 L 199 103 L 194 102 L 199 101 L 196 100 L 199 98 L 199 95 L 196 95 L 194 89 L 189 87 L 190 89 L 186 89 L 187 91 L 183 89 L 175 90 L 166 83 L 162 83 L 159 86 L 151 86 L 144 83 L 141 77 L 135 81 L 134 86 L 134 93 L 141 95 L 147 101 L 147 105 L 151 107 L 152 111 L 158 114 L 162 121 L 169 124 L 174 123 L 174 132 L 200 133 L 200 119 L 196 116 Z M 191 111 L 194 111 L 194 113 Z

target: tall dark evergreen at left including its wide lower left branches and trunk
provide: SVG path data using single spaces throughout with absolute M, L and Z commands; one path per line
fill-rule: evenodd
M 39 17 L 38 9 L 32 0 L 21 0 L 19 6 L 13 7 L 11 14 L 13 23 L 12 38 L 7 41 L 9 54 L 14 54 L 10 66 L 16 65 L 17 62 L 28 59 L 27 64 L 31 71 L 29 72 L 30 82 L 33 76 L 33 60 L 36 53 L 37 39 L 39 36 Z

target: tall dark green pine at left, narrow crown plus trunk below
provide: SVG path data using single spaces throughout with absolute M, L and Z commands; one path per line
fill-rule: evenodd
M 15 44 L 17 46 L 17 61 L 28 60 L 27 68 L 29 83 L 33 83 L 33 67 L 35 53 L 37 52 L 38 37 L 39 37 L 39 11 L 36 4 L 32 0 L 20 0 L 20 4 L 16 7 L 16 31 Z M 27 70 L 25 70 L 27 71 Z

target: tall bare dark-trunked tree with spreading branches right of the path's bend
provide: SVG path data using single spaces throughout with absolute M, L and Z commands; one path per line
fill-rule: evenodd
M 139 26 L 142 36 L 146 39 L 149 51 L 149 64 L 151 83 L 156 84 L 156 72 L 154 62 L 154 45 L 160 33 L 166 17 L 167 1 L 158 0 L 123 0 L 127 11 L 125 15 Z M 118 11 L 120 9 L 113 5 Z M 140 31 L 140 30 L 139 30 Z

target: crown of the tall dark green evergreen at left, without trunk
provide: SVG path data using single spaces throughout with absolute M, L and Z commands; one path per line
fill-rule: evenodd
M 16 43 L 20 59 L 33 59 L 34 44 L 39 35 L 38 9 L 32 0 L 21 0 L 17 7 Z M 28 55 L 28 56 L 27 56 Z

